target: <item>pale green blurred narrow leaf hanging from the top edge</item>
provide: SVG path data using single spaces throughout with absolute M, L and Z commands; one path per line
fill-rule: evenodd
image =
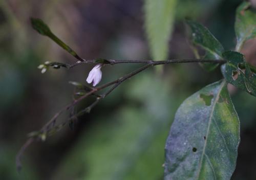
M 168 56 L 168 42 L 173 31 L 176 0 L 145 0 L 145 28 L 154 60 Z

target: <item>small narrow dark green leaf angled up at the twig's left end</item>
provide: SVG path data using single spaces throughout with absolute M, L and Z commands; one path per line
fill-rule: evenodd
M 45 24 L 44 21 L 38 18 L 31 18 L 31 24 L 32 27 L 41 35 L 48 36 L 51 38 L 54 42 L 56 42 L 61 48 L 65 49 L 68 53 L 70 53 L 72 56 L 74 56 L 76 59 L 80 61 L 84 61 L 82 58 L 80 58 L 75 51 L 73 51 L 66 43 L 64 43 L 62 40 L 60 40 L 57 36 L 55 36 L 50 28 Z

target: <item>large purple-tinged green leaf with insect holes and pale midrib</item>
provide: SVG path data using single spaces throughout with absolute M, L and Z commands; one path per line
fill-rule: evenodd
M 190 96 L 179 107 L 169 132 L 164 178 L 230 179 L 236 167 L 239 129 L 225 80 Z

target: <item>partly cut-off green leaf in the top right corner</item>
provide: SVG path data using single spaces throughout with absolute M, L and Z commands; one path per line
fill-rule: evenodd
M 234 30 L 237 35 L 236 50 L 240 51 L 244 42 L 256 37 L 256 11 L 249 2 L 243 2 L 237 9 Z

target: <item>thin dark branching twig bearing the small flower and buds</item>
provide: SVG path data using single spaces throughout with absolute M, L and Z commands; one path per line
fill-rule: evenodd
M 126 74 L 125 76 L 118 78 L 112 82 L 108 82 L 105 83 L 103 85 L 100 85 L 96 88 L 91 88 L 91 91 L 89 91 L 88 93 L 84 94 L 83 96 L 79 97 L 78 99 L 75 99 L 71 104 L 67 105 L 65 108 L 61 109 L 58 113 L 56 113 L 53 118 L 46 123 L 38 132 L 35 132 L 35 134 L 30 137 L 27 142 L 23 145 L 23 147 L 19 150 L 17 156 L 16 156 L 16 165 L 17 165 L 17 169 L 19 170 L 21 168 L 21 164 L 20 164 L 20 158 L 23 155 L 25 149 L 35 140 L 35 139 L 41 139 L 41 140 L 45 140 L 45 138 L 47 137 L 47 135 L 49 135 L 50 132 L 52 132 L 53 128 L 55 128 L 55 130 L 60 130 L 65 124 L 67 124 L 68 121 L 76 118 L 77 116 L 80 116 L 84 113 L 89 113 L 91 111 L 91 109 L 96 106 L 98 104 L 98 102 L 102 99 L 104 99 L 106 96 L 108 96 L 116 87 L 118 87 L 122 82 L 124 82 L 125 80 L 135 76 L 136 74 L 146 70 L 147 68 L 150 68 L 151 66 L 155 66 L 155 65 L 160 65 L 160 64 L 170 64 L 170 63 L 188 63 L 188 62 L 214 62 L 214 63 L 225 63 L 226 60 L 216 60 L 216 59 L 172 59 L 172 60 L 165 60 L 165 61 L 153 61 L 153 60 L 104 60 L 106 62 L 108 62 L 107 64 L 120 64 L 120 63 L 145 63 L 144 66 L 142 66 L 141 68 Z M 80 61 L 77 62 L 75 64 L 69 65 L 67 68 L 73 68 L 79 64 L 84 64 L 84 63 L 99 63 L 99 61 L 96 60 L 84 60 L 84 61 Z M 76 115 L 71 116 L 68 120 L 64 121 L 63 123 L 61 123 L 59 126 L 55 126 L 56 120 L 57 118 L 66 110 L 70 110 L 72 107 L 74 107 L 75 105 L 77 105 L 80 101 L 82 101 L 83 99 L 87 98 L 90 95 L 95 95 L 96 92 L 101 91 L 102 89 L 112 86 L 108 91 L 106 91 L 104 94 L 102 95 L 98 95 L 98 97 L 96 98 L 96 100 L 89 105 L 88 107 L 84 108 L 83 110 L 79 111 Z

